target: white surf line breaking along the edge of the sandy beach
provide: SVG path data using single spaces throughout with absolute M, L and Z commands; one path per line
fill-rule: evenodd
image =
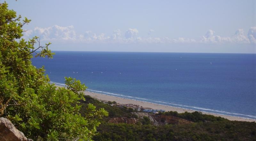
M 50 83 L 55 83 L 56 85 L 60 85 L 60 86 L 67 86 L 65 84 L 56 83 L 56 82 L 52 82 L 52 81 Z M 146 100 L 146 101 L 143 101 L 143 102 L 149 102 L 149 103 L 153 103 L 153 104 L 163 103 L 163 105 L 165 104 L 165 106 L 173 106 L 173 107 L 176 107 L 176 108 L 185 108 L 185 109 L 188 109 L 188 110 L 200 110 L 202 112 L 213 113 L 213 114 L 223 113 L 223 115 L 228 115 L 228 114 L 229 115 L 237 115 L 236 117 L 246 116 L 246 117 L 251 117 L 251 118 L 248 118 L 248 119 L 252 119 L 252 118 L 256 119 L 256 116 L 253 116 L 253 115 L 244 115 L 244 114 L 231 113 L 231 112 L 220 111 L 220 110 L 213 110 L 213 109 L 208 109 L 208 108 L 201 108 L 201 107 L 195 107 L 195 106 L 187 106 L 187 105 L 175 104 L 175 103 L 165 102 L 165 101 L 156 101 L 156 100 L 150 100 L 150 99 L 139 98 L 139 97 L 132 97 L 132 96 L 127 96 L 127 95 L 122 95 L 122 94 L 97 91 L 97 90 L 92 90 L 92 89 L 86 89 L 86 90 L 88 90 L 89 92 L 97 92 L 97 93 L 106 94 L 106 95 L 114 95 L 116 97 L 128 98 L 128 99 L 131 99 L 131 100 L 136 100 L 136 99 L 139 99 L 138 101 Z M 211 111 L 211 112 L 209 112 L 209 111 Z M 244 117 L 242 117 L 242 118 L 244 118 Z

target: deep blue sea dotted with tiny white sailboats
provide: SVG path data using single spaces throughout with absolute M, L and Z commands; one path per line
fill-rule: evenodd
M 88 91 L 256 119 L 256 54 L 53 51 L 52 82 L 79 79 Z

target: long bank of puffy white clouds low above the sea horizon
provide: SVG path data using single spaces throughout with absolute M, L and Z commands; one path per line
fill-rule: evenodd
M 151 35 L 155 30 L 150 29 L 148 35 Z M 169 37 L 140 37 L 139 31 L 136 28 L 129 28 L 126 31 L 116 29 L 112 35 L 105 33 L 96 34 L 92 31 L 84 31 L 84 34 L 77 34 L 74 26 L 50 26 L 50 27 L 35 27 L 33 30 L 24 32 L 24 38 L 28 39 L 33 36 L 40 36 L 42 41 L 57 41 L 57 42 L 73 42 L 73 43 L 209 43 L 209 44 L 256 44 L 256 26 L 249 29 L 247 35 L 244 29 L 237 29 L 230 37 L 221 37 L 215 35 L 212 29 L 206 31 L 205 35 L 201 36 L 200 40 L 189 39 L 184 37 L 169 38 Z

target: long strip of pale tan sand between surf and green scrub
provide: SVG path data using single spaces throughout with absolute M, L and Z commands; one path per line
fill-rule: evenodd
M 84 93 L 85 93 L 85 95 L 89 95 L 89 96 L 91 96 L 97 100 L 100 100 L 100 101 L 116 101 L 118 104 L 134 104 L 134 105 L 140 105 L 144 108 L 161 109 L 161 110 L 165 110 L 165 111 L 177 111 L 178 113 L 184 113 L 185 111 L 194 112 L 194 110 L 176 108 L 176 107 L 154 104 L 154 103 L 149 103 L 149 102 L 143 102 L 143 101 L 138 101 L 138 100 L 124 99 L 124 98 L 104 95 L 104 94 L 100 94 L 100 93 L 92 93 L 92 92 L 88 92 L 88 91 L 85 91 Z M 253 120 L 253 119 L 228 116 L 228 115 L 212 114 L 212 113 L 207 113 L 207 112 L 202 112 L 202 113 L 208 114 L 208 115 L 224 117 L 224 118 L 226 118 L 228 120 L 232 120 L 232 121 L 256 122 L 256 120 Z

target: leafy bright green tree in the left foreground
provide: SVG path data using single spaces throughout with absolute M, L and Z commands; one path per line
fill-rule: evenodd
M 0 3 L 0 116 L 28 138 L 91 140 L 99 120 L 108 113 L 88 104 L 85 117 L 79 114 L 78 100 L 84 99 L 86 89 L 79 80 L 65 77 L 67 88 L 48 83 L 44 67 L 33 66 L 31 58 L 52 58 L 51 43 L 41 46 L 39 37 L 22 39 L 22 27 L 30 20 L 20 20 L 6 2 Z

